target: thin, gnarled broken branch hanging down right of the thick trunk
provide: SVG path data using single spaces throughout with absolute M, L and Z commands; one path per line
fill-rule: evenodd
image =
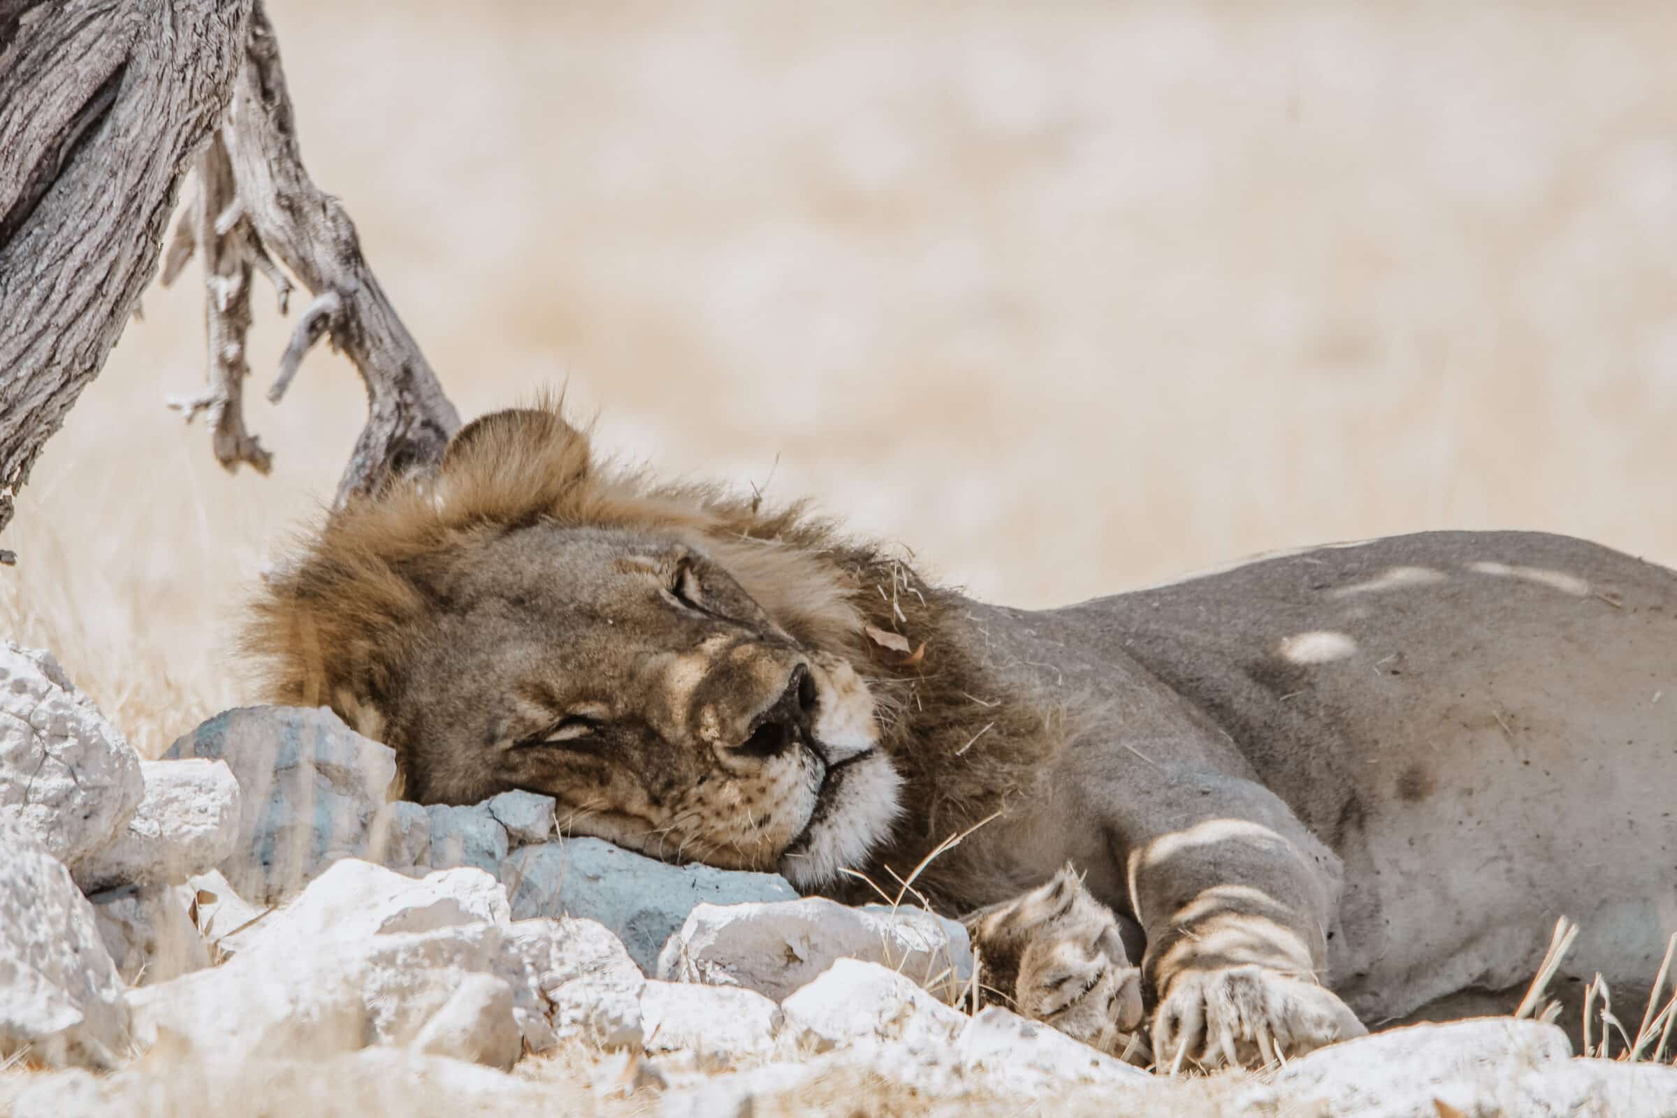
M 320 337 L 329 337 L 349 355 L 367 387 L 367 426 L 339 481 L 339 505 L 376 488 L 391 473 L 436 463 L 459 427 L 459 416 L 362 258 L 349 215 L 304 169 L 278 42 L 260 2 L 252 13 L 248 52 L 220 144 L 231 173 L 231 196 L 218 194 L 215 204 L 201 204 L 196 215 L 183 220 L 183 230 L 191 223 L 190 231 L 178 233 L 178 243 L 188 251 L 196 243 L 200 251 L 210 253 L 205 260 L 211 283 L 211 399 L 206 406 L 216 419 L 216 458 L 230 468 L 248 461 L 267 471 L 267 451 L 245 434 L 236 386 L 250 325 L 250 268 L 263 268 L 273 278 L 267 256 L 272 251 L 315 298 L 299 317 L 268 399 L 278 402 Z M 205 163 L 213 164 L 205 178 L 213 178 L 220 191 L 223 174 L 216 148 Z M 210 189 L 206 184 L 205 193 Z M 233 261 L 243 261 L 236 272 L 231 272 Z M 218 312 L 215 300 L 221 290 L 236 290 L 236 297 Z M 280 287 L 282 308 L 285 293 Z

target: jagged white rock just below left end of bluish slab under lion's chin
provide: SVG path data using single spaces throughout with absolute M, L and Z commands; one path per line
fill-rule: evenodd
M 641 1041 L 646 977 L 610 930 L 594 920 L 518 920 L 511 937 L 548 1004 L 552 1036 L 532 1049 L 577 1036 L 604 1048 Z

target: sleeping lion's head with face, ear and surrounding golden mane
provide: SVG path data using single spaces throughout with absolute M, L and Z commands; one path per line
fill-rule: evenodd
M 273 699 L 391 744 L 413 800 L 523 788 L 574 833 L 813 887 L 897 815 L 860 588 L 797 511 L 604 471 L 555 411 L 508 411 L 330 516 L 248 644 Z

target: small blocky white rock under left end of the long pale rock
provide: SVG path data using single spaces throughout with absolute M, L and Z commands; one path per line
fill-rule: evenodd
M 647 982 L 641 991 L 641 1048 L 647 1053 L 691 1053 L 726 1066 L 768 1056 L 780 1017 L 780 1006 L 756 991 Z

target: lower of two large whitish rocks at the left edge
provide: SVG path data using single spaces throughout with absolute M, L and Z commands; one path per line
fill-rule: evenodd
M 0 1059 L 27 1044 L 42 1063 L 107 1068 L 127 1024 L 94 907 L 47 846 L 0 820 Z

